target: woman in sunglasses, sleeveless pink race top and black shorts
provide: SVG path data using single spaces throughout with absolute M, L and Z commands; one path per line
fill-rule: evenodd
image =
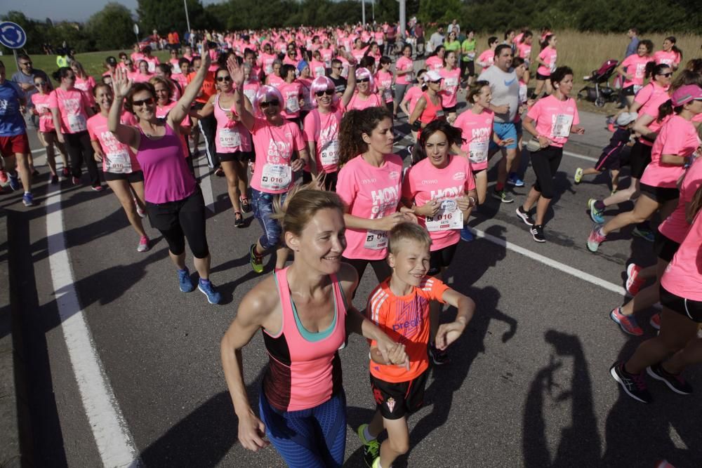
M 193 110 L 198 119 L 214 113 L 217 121 L 215 149 L 227 178 L 227 192 L 234 208 L 234 226 L 244 227 L 244 215 L 251 213 L 251 203 L 246 196 L 248 188 L 247 162 L 251 158 L 251 133 L 241 123 L 239 114 L 234 112 L 234 87 L 232 76 L 226 68 L 217 70 L 215 79 L 219 93 L 211 95 L 200 110 Z M 251 112 L 251 102 L 244 100 L 244 106 Z

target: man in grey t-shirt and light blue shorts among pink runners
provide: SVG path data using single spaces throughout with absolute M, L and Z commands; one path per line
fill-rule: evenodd
M 478 81 L 490 83 L 492 100 L 490 109 L 495 113 L 493 131 L 501 141 L 500 145 L 490 142 L 490 155 L 495 154 L 498 149 L 503 150 L 503 157 L 498 165 L 497 182 L 492 195 L 503 203 L 512 203 L 514 199 L 505 191 L 505 183 L 516 187 L 524 187 L 524 181 L 519 179 L 516 173 L 510 173 L 512 168 L 519 167 L 519 152 L 517 152 L 517 140 L 521 132 L 521 125 L 517 128 L 515 119 L 519 112 L 519 79 L 512 68 L 512 48 L 506 44 L 501 44 L 495 49 L 495 63 L 492 67 L 485 69 Z

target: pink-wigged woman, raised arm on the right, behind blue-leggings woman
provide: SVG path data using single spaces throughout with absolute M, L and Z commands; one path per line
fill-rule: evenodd
M 352 59 L 352 62 L 352 73 L 349 74 L 349 81 L 341 98 L 336 94 L 334 82 L 327 76 L 318 76 L 312 81 L 316 109 L 305 116 L 307 147 L 317 161 L 317 171 L 324 173 L 324 187 L 331 191 L 336 190 L 341 118 L 356 88 L 355 59 Z M 312 182 L 309 168 L 305 168 L 304 182 Z

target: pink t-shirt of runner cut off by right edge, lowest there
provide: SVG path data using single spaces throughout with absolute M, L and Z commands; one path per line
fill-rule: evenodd
M 702 215 L 697 213 L 677 252 L 665 268 L 661 286 L 677 296 L 702 300 Z

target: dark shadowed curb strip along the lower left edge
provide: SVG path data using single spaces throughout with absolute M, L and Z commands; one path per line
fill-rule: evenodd
M 10 269 L 10 220 L 0 209 L 0 468 L 31 467 L 22 328 Z

